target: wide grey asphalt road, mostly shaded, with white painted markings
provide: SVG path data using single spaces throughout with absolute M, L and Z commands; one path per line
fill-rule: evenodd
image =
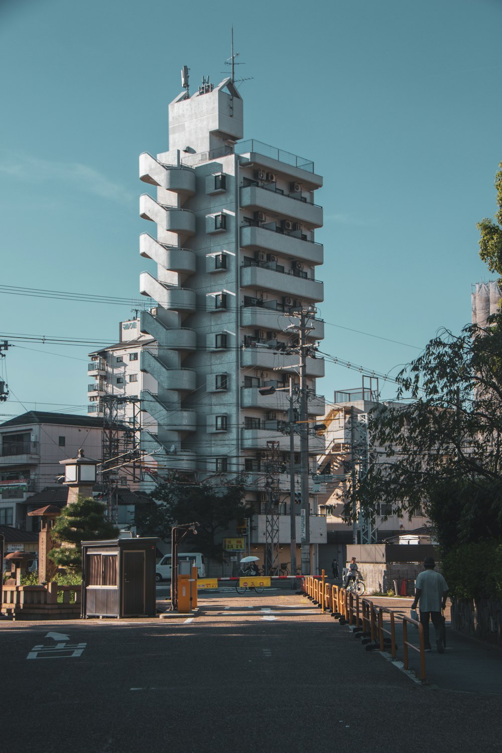
M 500 751 L 500 695 L 415 684 L 301 596 L 200 604 L 193 620 L 0 623 L 2 749 Z

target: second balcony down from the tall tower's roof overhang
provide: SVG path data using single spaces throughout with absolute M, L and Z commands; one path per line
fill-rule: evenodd
M 322 264 L 324 246 L 301 238 L 301 233 L 283 233 L 258 225 L 243 225 L 240 230 L 242 248 L 252 251 L 269 251 L 278 255 L 300 259 L 310 264 Z

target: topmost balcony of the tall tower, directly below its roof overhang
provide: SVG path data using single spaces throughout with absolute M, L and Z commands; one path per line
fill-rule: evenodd
M 245 186 L 240 189 L 242 209 L 261 210 L 267 219 L 291 219 L 308 225 L 322 227 L 322 207 L 300 199 L 271 191 L 260 186 Z

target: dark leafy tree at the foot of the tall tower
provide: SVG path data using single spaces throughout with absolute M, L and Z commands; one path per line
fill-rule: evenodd
M 152 492 L 154 505 L 136 508 L 135 524 L 146 535 L 170 541 L 172 526 L 199 523 L 197 535 L 189 534 L 187 543 L 196 544 L 205 556 L 221 559 L 223 549 L 219 536 L 230 523 L 248 517 L 250 508 L 245 504 L 245 477 L 238 476 L 230 483 L 216 486 L 210 481 L 194 483 L 180 474 L 160 483 Z

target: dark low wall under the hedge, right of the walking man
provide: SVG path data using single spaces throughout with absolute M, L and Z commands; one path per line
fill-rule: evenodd
M 452 627 L 502 648 L 502 601 L 452 599 Z

